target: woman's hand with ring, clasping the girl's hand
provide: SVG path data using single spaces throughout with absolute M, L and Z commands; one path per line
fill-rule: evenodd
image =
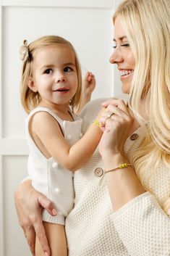
M 100 120 L 103 130 L 99 144 L 101 156 L 124 155 L 124 143 L 129 136 L 133 118 L 122 100 L 110 99 L 108 102 L 103 102 L 102 105 L 106 107 L 106 111 L 103 112 Z

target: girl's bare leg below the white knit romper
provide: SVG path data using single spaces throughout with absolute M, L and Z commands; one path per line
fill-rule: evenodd
M 54 223 L 43 222 L 46 230 L 51 256 L 67 256 L 67 241 L 64 226 Z M 35 256 L 44 256 L 39 240 L 35 241 Z

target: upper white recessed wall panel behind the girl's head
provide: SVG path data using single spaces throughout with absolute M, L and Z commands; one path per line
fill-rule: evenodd
M 49 17 L 50 14 L 50 17 Z M 40 36 L 56 34 L 75 46 L 82 66 L 95 74 L 93 99 L 113 96 L 111 54 L 112 11 L 109 9 L 3 8 L 3 136 L 23 137 L 24 112 L 20 104 L 19 49 Z M 13 115 L 11 115 L 11 112 Z M 17 122 L 15 115 L 17 114 Z

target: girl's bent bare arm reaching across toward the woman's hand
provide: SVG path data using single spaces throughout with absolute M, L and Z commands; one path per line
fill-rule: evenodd
M 99 112 L 97 120 L 100 118 L 101 112 Z M 82 139 L 70 146 L 64 139 L 59 123 L 54 117 L 47 112 L 37 112 L 30 120 L 30 134 L 47 158 L 54 157 L 64 168 L 78 170 L 92 156 L 103 132 L 97 125 L 92 124 Z

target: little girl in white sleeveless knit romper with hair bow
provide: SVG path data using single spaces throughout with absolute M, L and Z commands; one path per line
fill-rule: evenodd
M 64 219 L 74 206 L 74 171 L 89 160 L 102 131 L 94 122 L 82 136 L 82 120 L 72 111 L 80 102 L 82 78 L 77 54 L 69 41 L 59 36 L 44 36 L 28 46 L 24 41 L 20 54 L 21 100 L 29 113 L 28 173 L 34 188 L 56 205 L 56 216 L 46 210 L 42 213 L 51 255 L 66 256 Z M 87 80 L 94 87 L 92 74 Z M 96 120 L 99 117 L 100 113 Z M 35 255 L 43 255 L 38 239 Z

